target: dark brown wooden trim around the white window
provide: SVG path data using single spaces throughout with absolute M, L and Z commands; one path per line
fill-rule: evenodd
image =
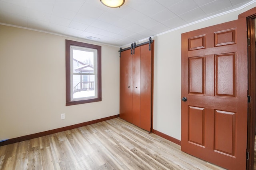
M 85 48 L 92 48 L 96 49 L 97 52 L 97 57 L 96 57 L 96 62 L 97 62 L 97 81 L 98 84 L 95 86 L 95 88 L 98 89 L 98 96 L 96 98 L 90 98 L 90 99 L 84 99 L 84 100 L 71 100 L 71 69 L 70 69 L 70 47 L 71 46 L 80 46 L 80 47 L 85 47 Z M 77 42 L 77 41 L 72 41 L 72 40 L 66 40 L 66 106 L 71 106 L 71 105 L 76 105 L 76 104 L 84 104 L 84 103 L 90 103 L 90 102 L 100 102 L 102 101 L 102 86 L 101 86 L 101 46 L 97 46 L 94 44 L 88 44 L 84 42 Z

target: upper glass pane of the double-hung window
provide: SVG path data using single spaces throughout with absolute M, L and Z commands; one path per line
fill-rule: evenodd
M 94 52 L 73 50 L 73 72 L 94 73 Z

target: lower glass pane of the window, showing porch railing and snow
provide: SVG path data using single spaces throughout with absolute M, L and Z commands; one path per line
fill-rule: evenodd
M 96 96 L 95 75 L 73 75 L 73 100 Z

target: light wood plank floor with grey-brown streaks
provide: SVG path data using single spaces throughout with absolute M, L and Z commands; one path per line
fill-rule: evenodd
M 0 170 L 224 170 L 120 119 L 0 147 Z

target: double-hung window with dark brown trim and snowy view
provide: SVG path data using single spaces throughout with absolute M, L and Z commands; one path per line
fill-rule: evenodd
M 101 46 L 66 40 L 66 106 L 101 100 Z

